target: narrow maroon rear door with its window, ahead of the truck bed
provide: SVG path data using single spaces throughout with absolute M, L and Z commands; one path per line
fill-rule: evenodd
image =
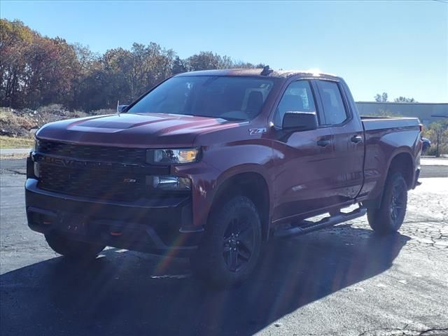
M 344 83 L 338 80 L 314 80 L 314 83 L 323 111 L 321 127 L 330 129 L 333 137 L 332 188 L 328 193 L 336 204 L 344 203 L 353 200 L 363 186 L 363 125 L 349 104 Z

